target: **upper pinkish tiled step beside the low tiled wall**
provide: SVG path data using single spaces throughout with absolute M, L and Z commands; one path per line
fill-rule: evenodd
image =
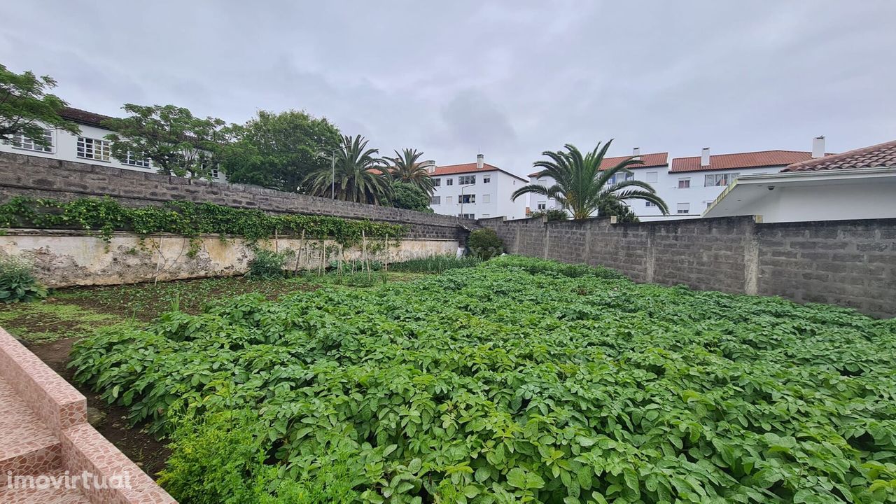
M 0 377 L 0 412 L 3 412 L 0 415 L 0 484 L 8 472 L 47 474 L 61 467 L 59 439 L 3 377 Z

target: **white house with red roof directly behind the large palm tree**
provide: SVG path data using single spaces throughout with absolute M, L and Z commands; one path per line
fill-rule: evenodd
M 630 167 L 632 173 L 625 174 L 620 173 L 615 177 L 619 178 L 619 181 L 634 179 L 634 180 L 642 180 L 644 182 L 650 183 L 657 192 L 659 193 L 659 187 L 668 185 L 668 152 L 653 152 L 650 154 L 642 154 L 641 149 L 635 147 L 632 150 L 632 156 L 636 156 L 639 160 L 642 161 L 643 164 L 635 165 Z M 622 161 L 627 160 L 632 156 L 619 156 L 615 158 L 604 158 L 604 162 L 600 165 L 600 169 L 608 169 L 613 168 L 617 164 Z M 543 186 L 553 186 L 555 183 L 554 178 L 550 177 L 541 177 L 538 178 L 538 171 L 529 174 L 529 179 L 532 184 L 540 184 Z M 612 179 L 608 183 L 615 183 L 616 180 Z M 665 199 L 665 196 L 663 196 Z M 549 210 L 552 208 L 560 208 L 561 205 L 556 202 L 554 198 L 548 198 L 547 196 L 530 196 L 530 204 L 531 210 L 533 212 L 537 212 L 538 210 Z M 659 212 L 659 208 L 648 202 L 642 200 L 633 200 L 628 202 L 629 206 L 632 208 L 633 212 L 637 214 L 639 217 L 649 216 L 649 215 L 661 215 Z

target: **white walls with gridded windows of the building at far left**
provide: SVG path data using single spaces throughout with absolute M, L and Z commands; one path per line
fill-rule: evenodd
M 118 160 L 112 157 L 108 150 L 108 141 L 105 140 L 106 135 L 113 133 L 111 130 L 88 125 L 78 125 L 78 127 L 81 128 L 81 135 L 72 135 L 59 129 L 48 129 L 47 135 L 53 143 L 48 150 L 20 137 L 17 143 L 0 142 L 0 152 L 14 152 L 41 158 L 99 164 L 150 173 L 157 172 L 157 168 L 148 160 L 138 157 L 130 160 Z M 217 180 L 225 180 L 223 173 L 215 170 L 213 174 L 217 175 Z

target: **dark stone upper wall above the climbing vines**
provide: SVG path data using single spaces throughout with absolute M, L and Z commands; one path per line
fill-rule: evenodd
M 466 238 L 470 229 L 476 227 L 474 221 L 449 215 L 0 152 L 0 203 L 13 196 L 55 198 L 62 201 L 85 196 L 111 196 L 130 206 L 185 200 L 237 208 L 257 208 L 267 213 L 332 215 L 408 224 L 408 238 L 412 239 L 460 241 Z

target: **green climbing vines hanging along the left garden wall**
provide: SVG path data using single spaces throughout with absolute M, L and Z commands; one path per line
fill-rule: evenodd
M 362 237 L 401 239 L 408 227 L 371 221 L 350 221 L 325 215 L 271 215 L 261 210 L 232 208 L 220 204 L 171 201 L 162 206 L 131 208 L 110 197 L 55 199 L 13 197 L 0 204 L 0 228 L 81 229 L 95 233 L 107 243 L 118 230 L 133 231 L 142 238 L 168 232 L 195 239 L 219 234 L 222 239 L 249 241 L 274 236 L 333 239 L 350 247 Z

